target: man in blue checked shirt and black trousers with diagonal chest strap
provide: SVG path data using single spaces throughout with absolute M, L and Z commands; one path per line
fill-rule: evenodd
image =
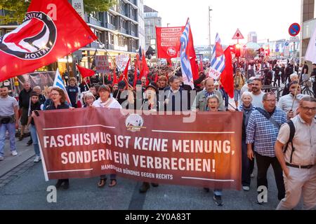
M 258 167 L 257 188 L 265 186 L 268 188 L 267 172 L 272 165 L 277 183 L 277 198 L 282 200 L 285 195 L 282 168 L 275 155 L 275 141 L 279 127 L 287 122 L 287 115 L 276 107 L 275 94 L 266 93 L 263 95 L 263 109 L 256 108 L 251 113 L 246 130 L 247 155 L 249 160 L 254 160 Z M 254 151 L 253 146 L 254 144 Z M 261 204 L 261 202 L 258 202 Z

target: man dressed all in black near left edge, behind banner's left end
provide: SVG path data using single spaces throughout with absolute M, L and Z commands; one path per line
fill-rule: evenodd
M 23 84 L 23 90 L 19 94 L 19 106 L 21 114 L 21 133 L 19 141 L 22 141 L 24 138 L 25 126 L 27 125 L 28 113 L 29 113 L 29 98 L 31 97 L 31 85 L 29 83 Z

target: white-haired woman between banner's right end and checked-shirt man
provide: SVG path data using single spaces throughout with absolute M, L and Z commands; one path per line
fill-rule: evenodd
M 242 189 L 244 191 L 250 190 L 251 174 L 254 172 L 254 160 L 249 160 L 246 145 L 246 127 L 251 113 L 256 110 L 251 102 L 251 93 L 244 92 L 242 94 L 242 105 L 238 107 L 238 111 L 244 113 L 242 120 Z

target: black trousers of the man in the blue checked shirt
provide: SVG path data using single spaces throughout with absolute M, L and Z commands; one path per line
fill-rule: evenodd
M 276 157 L 270 158 L 258 153 L 255 153 L 255 155 L 258 167 L 257 188 L 260 186 L 268 188 L 267 172 L 270 165 L 272 165 L 273 172 L 275 172 L 275 182 L 277 183 L 277 198 L 282 200 L 285 197 L 285 188 L 282 167 L 279 165 L 279 161 Z

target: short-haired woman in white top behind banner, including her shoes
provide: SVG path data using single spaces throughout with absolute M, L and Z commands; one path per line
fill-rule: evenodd
M 98 94 L 100 95 L 100 98 L 93 102 L 92 106 L 94 107 L 101 107 L 101 108 L 110 108 L 110 109 L 122 109 L 119 102 L 117 102 L 116 99 L 111 97 L 111 89 L 108 85 L 101 85 L 98 88 Z M 109 187 L 112 188 L 117 185 L 117 175 L 111 174 L 110 175 L 110 185 Z M 98 188 L 103 188 L 105 186 L 105 183 L 107 181 L 107 176 L 102 175 L 100 176 L 100 181 L 98 183 Z

